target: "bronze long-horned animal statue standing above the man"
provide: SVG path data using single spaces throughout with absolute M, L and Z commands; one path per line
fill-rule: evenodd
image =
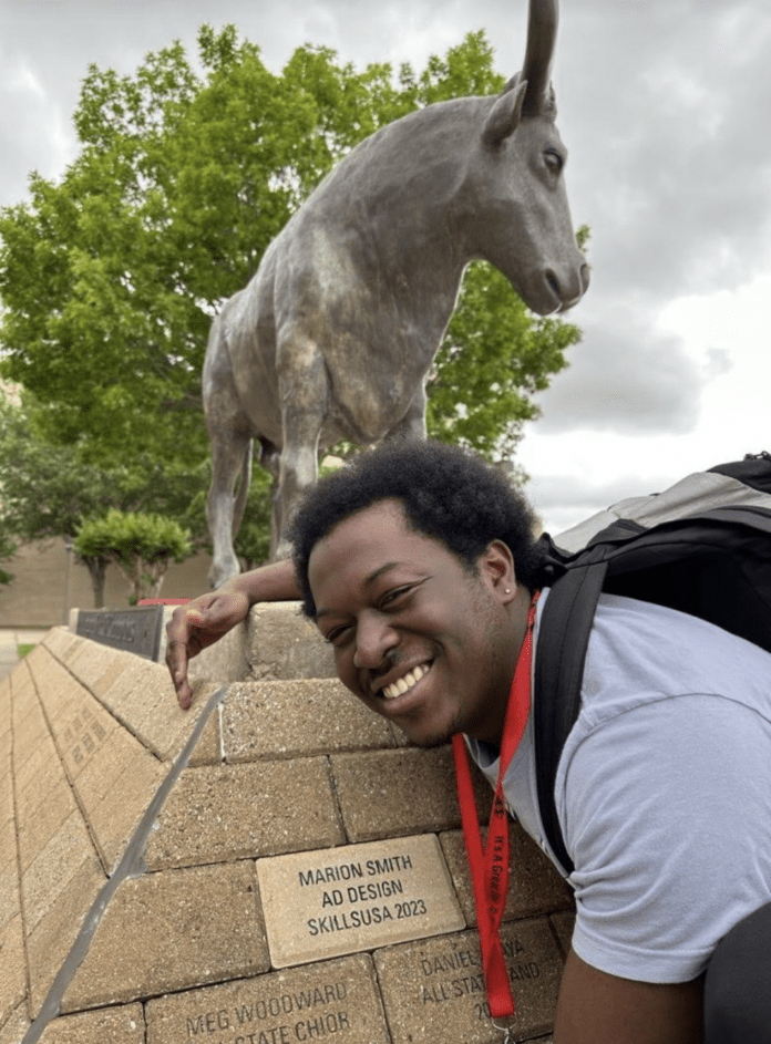
M 213 587 L 239 571 L 254 438 L 275 479 L 280 558 L 325 448 L 425 437 L 425 380 L 469 261 L 490 261 L 539 314 L 586 290 L 549 83 L 556 28 L 557 0 L 531 0 L 524 66 L 502 94 L 429 105 L 361 142 L 214 320 L 203 372 Z

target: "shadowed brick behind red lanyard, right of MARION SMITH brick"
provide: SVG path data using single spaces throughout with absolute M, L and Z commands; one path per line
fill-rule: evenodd
M 483 828 L 483 838 L 487 831 Z M 469 926 L 476 926 L 476 905 L 469 870 L 463 831 L 443 834 L 440 838 L 455 891 Z M 516 823 L 508 830 L 508 889 L 504 920 L 548 913 L 570 907 L 569 886 L 557 874 L 552 861 Z

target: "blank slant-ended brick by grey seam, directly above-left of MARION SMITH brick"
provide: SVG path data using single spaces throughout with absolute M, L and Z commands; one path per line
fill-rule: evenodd
M 326 758 L 188 768 L 147 841 L 147 867 L 277 855 L 340 845 Z

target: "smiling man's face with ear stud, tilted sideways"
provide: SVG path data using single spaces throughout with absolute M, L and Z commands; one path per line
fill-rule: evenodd
M 456 732 L 500 742 L 521 635 L 496 547 L 472 575 L 408 528 L 399 502 L 382 500 L 311 551 L 317 623 L 341 681 L 421 746 Z

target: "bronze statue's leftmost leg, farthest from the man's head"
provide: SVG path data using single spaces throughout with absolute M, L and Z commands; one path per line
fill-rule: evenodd
M 233 549 L 236 506 L 234 488 L 244 461 L 250 452 L 251 434 L 219 421 L 216 425 L 209 425 L 209 438 L 213 474 L 206 499 L 206 517 L 214 544 L 209 583 L 216 588 L 240 572 L 240 565 Z

